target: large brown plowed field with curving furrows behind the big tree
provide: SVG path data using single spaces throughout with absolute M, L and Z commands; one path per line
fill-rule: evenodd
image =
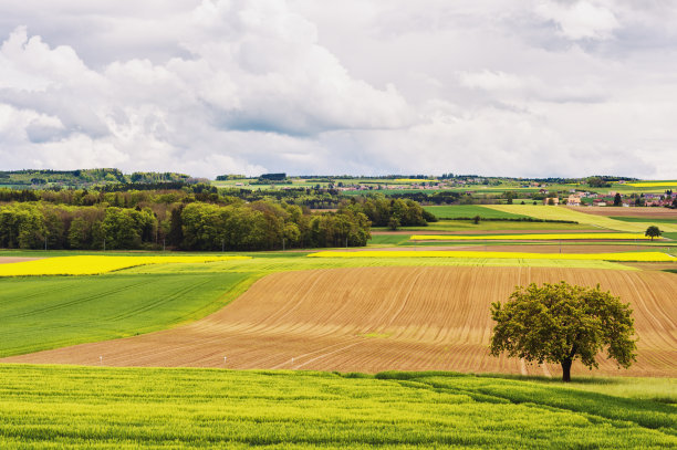
M 633 304 L 637 363 L 595 374 L 677 376 L 677 276 L 655 271 L 554 268 L 356 268 L 284 272 L 258 281 L 192 324 L 125 339 L 0 359 L 110 366 L 194 366 L 378 371 L 553 374 L 488 355 L 489 305 L 518 284 L 611 290 Z M 223 357 L 227 357 L 227 360 Z M 293 359 L 292 359 L 293 358 Z M 574 373 L 590 374 L 580 365 Z

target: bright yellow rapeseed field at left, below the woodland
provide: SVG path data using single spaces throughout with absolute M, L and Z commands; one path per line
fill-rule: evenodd
M 200 263 L 249 257 L 58 257 L 0 264 L 0 276 L 96 275 L 146 264 Z

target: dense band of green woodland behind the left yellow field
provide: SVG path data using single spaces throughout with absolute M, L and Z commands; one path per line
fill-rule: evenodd
M 119 192 L 116 203 L 124 203 Z M 125 192 L 126 193 L 126 192 Z M 83 196 L 90 196 L 86 193 Z M 94 196 L 111 196 L 98 192 Z M 173 193 L 167 193 L 173 196 Z M 168 199 L 167 199 L 168 200 Z M 86 200 L 85 200 L 86 202 Z M 127 201 L 133 202 L 133 200 Z M 135 207 L 53 205 L 45 201 L 0 206 L 0 248 L 275 250 L 360 247 L 371 238 L 363 213 L 311 213 L 284 202 L 136 202 Z

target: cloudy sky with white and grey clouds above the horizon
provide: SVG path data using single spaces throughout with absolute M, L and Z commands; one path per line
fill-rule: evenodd
M 0 0 L 0 169 L 677 178 L 674 0 Z

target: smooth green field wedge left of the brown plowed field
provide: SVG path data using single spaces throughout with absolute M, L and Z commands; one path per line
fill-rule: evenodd
M 210 314 L 252 273 L 0 279 L 0 356 L 148 333 Z

